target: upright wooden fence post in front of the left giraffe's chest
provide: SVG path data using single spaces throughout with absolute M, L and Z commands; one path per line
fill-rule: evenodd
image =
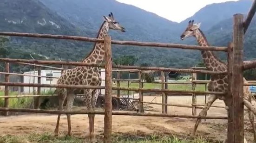
M 112 143 L 112 50 L 111 37 L 105 36 L 105 115 L 104 143 Z

